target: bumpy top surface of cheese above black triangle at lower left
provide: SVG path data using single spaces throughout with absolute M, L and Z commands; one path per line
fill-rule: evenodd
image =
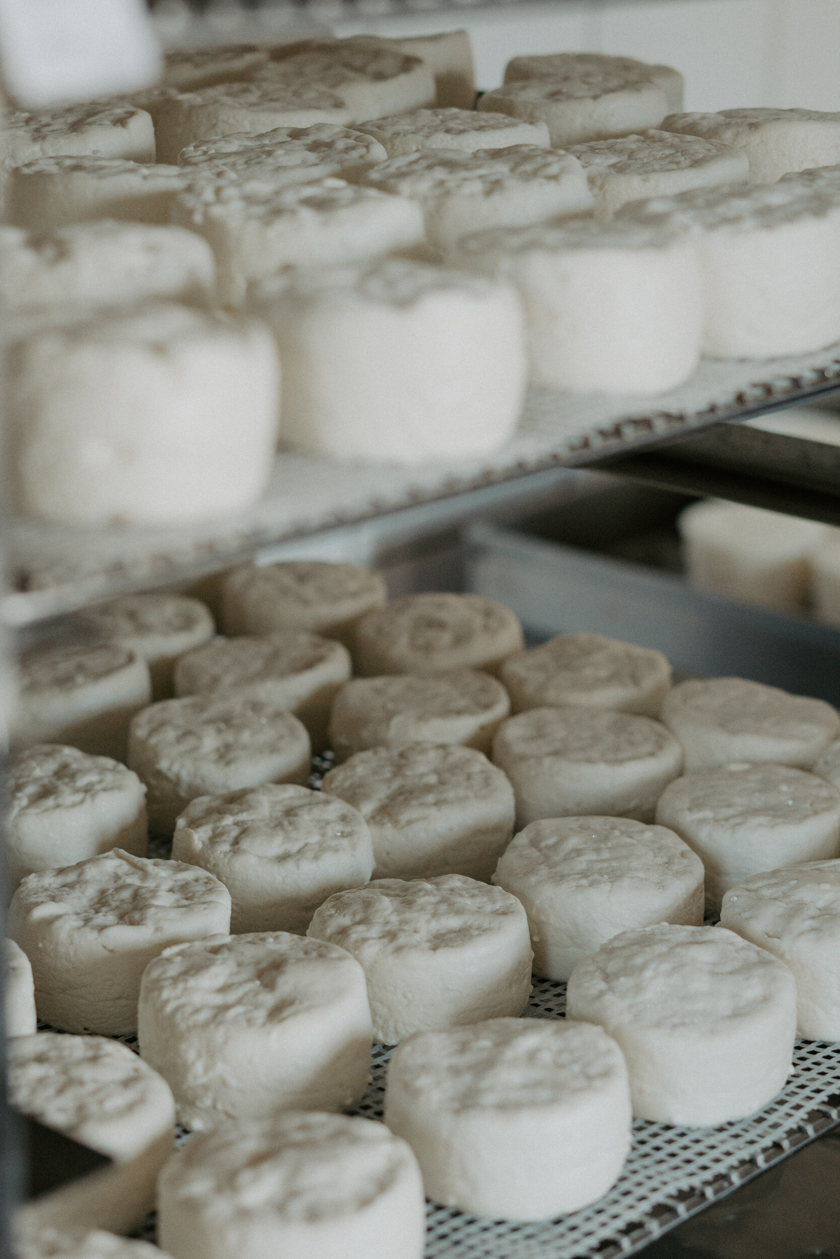
M 16 1110 L 122 1162 L 174 1139 L 169 1085 L 127 1045 L 105 1036 L 39 1032 L 8 1049 Z

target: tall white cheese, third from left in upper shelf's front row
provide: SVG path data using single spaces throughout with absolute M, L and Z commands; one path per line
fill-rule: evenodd
M 700 356 L 696 247 L 661 225 L 613 219 L 476 232 L 448 261 L 511 281 L 525 311 L 535 384 L 583 393 L 662 393 Z

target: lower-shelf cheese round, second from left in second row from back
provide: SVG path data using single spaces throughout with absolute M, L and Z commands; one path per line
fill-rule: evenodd
M 316 750 L 327 744 L 330 709 L 353 672 L 350 652 L 330 638 L 301 630 L 264 637 L 222 638 L 181 656 L 176 695 L 271 697 L 309 730 Z

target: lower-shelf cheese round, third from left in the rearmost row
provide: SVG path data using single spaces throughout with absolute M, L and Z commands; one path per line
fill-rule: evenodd
M 506 660 L 499 676 L 514 713 L 574 704 L 659 716 L 671 686 L 661 651 L 599 633 L 559 635 Z

